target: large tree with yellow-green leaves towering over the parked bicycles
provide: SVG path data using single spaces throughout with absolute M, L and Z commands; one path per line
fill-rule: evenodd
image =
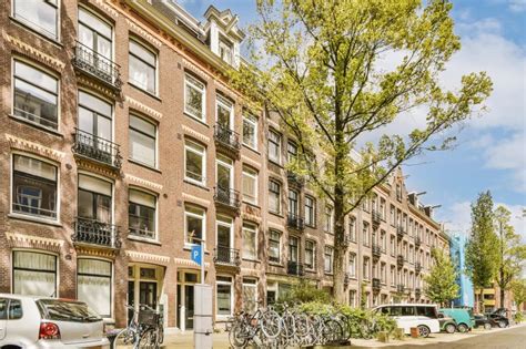
M 343 302 L 347 214 L 407 160 L 449 148 L 448 131 L 492 82 L 481 72 L 462 76 L 457 91 L 441 85 L 461 48 L 445 0 L 259 0 L 256 9 L 251 64 L 230 80 L 249 107 L 277 115 L 299 146 L 287 170 L 333 207 L 333 292 Z M 387 134 L 416 109 L 422 126 Z M 374 131 L 377 141 L 366 142 Z

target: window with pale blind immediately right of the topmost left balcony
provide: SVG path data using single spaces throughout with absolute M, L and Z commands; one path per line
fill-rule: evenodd
M 130 40 L 129 81 L 141 90 L 156 94 L 156 55 L 135 40 Z

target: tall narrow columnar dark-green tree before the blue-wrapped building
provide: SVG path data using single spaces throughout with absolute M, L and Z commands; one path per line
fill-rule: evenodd
M 466 273 L 475 289 L 479 290 L 478 302 L 484 310 L 484 288 L 495 279 L 498 260 L 498 238 L 495 234 L 493 198 L 489 192 L 481 193 L 472 204 L 472 230 L 466 245 Z

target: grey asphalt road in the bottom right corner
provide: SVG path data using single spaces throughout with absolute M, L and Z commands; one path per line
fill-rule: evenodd
M 355 348 L 365 348 L 365 347 L 355 347 Z M 476 348 L 476 349 L 526 349 L 526 327 L 520 326 L 517 328 L 507 329 L 504 331 L 498 331 L 481 336 L 474 336 L 471 338 L 453 341 L 453 342 L 442 342 L 442 343 L 429 343 L 429 345 L 406 345 L 406 346 L 391 346 L 382 347 L 382 349 L 401 349 L 401 348 L 412 348 L 412 349 L 466 349 L 466 348 Z

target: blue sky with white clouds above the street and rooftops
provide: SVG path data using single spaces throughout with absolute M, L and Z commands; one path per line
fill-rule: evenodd
M 251 0 L 179 2 L 198 20 L 210 4 L 231 9 L 241 28 L 257 19 Z M 487 111 L 462 125 L 453 150 L 403 166 L 406 186 L 426 192 L 425 204 L 442 205 L 435 218 L 453 234 L 468 234 L 471 203 L 490 191 L 495 205 L 512 211 L 512 224 L 526 242 L 526 0 L 453 0 L 452 16 L 462 49 L 441 80 L 455 86 L 463 74 L 486 71 L 494 91 Z M 422 117 L 425 113 L 405 115 L 392 127 L 415 126 Z

